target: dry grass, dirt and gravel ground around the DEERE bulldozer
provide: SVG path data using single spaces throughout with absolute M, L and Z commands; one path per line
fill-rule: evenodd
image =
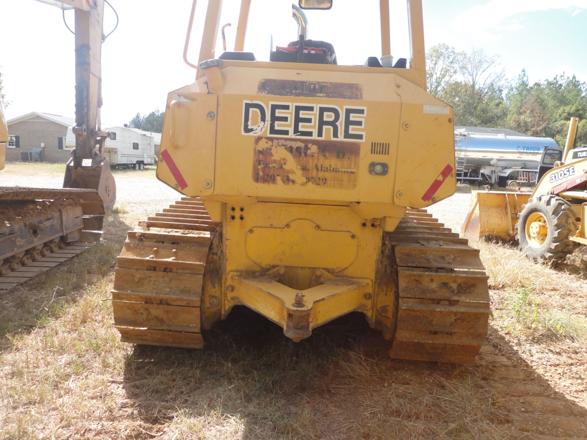
M 117 176 L 116 214 L 96 251 L 104 262 L 79 256 L 55 270 L 63 278 L 52 270 L 15 290 L 18 299 L 0 299 L 0 439 L 587 438 L 581 249 L 550 267 L 511 246 L 471 243 L 493 312 L 476 365 L 392 360 L 354 314 L 301 343 L 243 309 L 204 335 L 205 350 L 129 346 L 111 324 L 113 256 L 125 228 L 178 197 L 140 173 Z M 0 172 L 8 185 L 60 187 L 61 178 Z M 460 231 L 470 197 L 429 211 Z M 82 284 L 65 278 L 82 268 Z M 63 306 L 52 311 L 56 292 Z

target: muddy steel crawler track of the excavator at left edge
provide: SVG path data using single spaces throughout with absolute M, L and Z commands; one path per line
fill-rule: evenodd
M 99 242 L 103 216 L 93 189 L 0 187 L 0 292 Z

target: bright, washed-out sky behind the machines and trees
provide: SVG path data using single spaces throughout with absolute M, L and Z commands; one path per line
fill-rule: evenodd
M 339 64 L 380 56 L 376 0 L 333 0 L 330 11 L 307 11 L 311 39 L 333 43 Z M 191 0 L 110 0 L 119 14 L 102 48 L 102 121 L 127 123 L 136 113 L 165 109 L 167 93 L 193 82 L 183 62 Z M 197 62 L 207 0 L 199 0 L 189 59 Z M 239 0 L 224 0 L 220 19 L 234 47 Z M 359 6 L 357 6 L 359 5 Z M 354 6 L 354 7 L 353 7 Z M 509 77 L 526 69 L 531 82 L 565 72 L 587 82 L 587 0 L 423 0 L 426 48 L 484 49 L 500 56 Z M 0 0 L 0 73 L 12 119 L 31 111 L 74 117 L 73 35 L 62 11 L 33 0 Z M 65 11 L 73 28 L 73 11 Z M 390 0 L 392 54 L 409 57 L 405 0 Z M 116 24 L 106 6 L 104 32 Z M 252 0 L 245 50 L 268 60 L 271 41 L 296 39 L 291 2 Z M 222 52 L 218 35 L 217 54 Z M 103 124 L 103 125 L 104 125 Z

